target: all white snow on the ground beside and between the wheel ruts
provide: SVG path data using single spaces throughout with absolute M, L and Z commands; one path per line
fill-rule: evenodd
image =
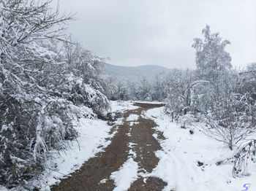
M 132 102 L 129 101 L 112 101 L 111 104 L 112 111 L 115 112 L 138 108 L 132 106 Z M 148 176 L 159 177 L 167 182 L 164 189 L 166 191 L 256 190 L 256 165 L 249 168 L 248 176 L 234 179 L 233 163 L 224 162 L 217 165 L 218 162 L 233 157 L 233 152 L 230 149 L 222 143 L 208 139 L 197 129 L 192 129 L 194 134 L 191 134 L 189 128 L 184 129 L 175 122 L 170 122 L 170 117 L 163 112 L 163 109 L 163 107 L 149 109 L 143 114 L 144 117 L 157 123 L 156 129 L 162 132 L 166 138 L 159 140 L 157 134 L 154 134 L 155 139 L 160 142 L 162 147 L 156 152 L 159 157 L 158 165 L 151 174 L 141 172 L 138 174 L 138 163 L 134 160 L 136 153 L 133 151 L 133 144 L 129 143 L 129 158 L 118 171 L 113 172 L 110 176 L 110 179 L 113 179 L 116 184 L 115 191 L 128 190 L 138 176 L 145 177 L 144 181 Z M 120 123 L 121 120 L 117 120 L 116 123 Z M 127 120 L 135 122 L 138 120 L 138 115 L 131 114 Z M 67 177 L 66 174 L 71 174 L 90 157 L 94 157 L 97 152 L 107 147 L 110 141 L 105 139 L 113 137 L 114 134 L 109 134 L 110 128 L 111 126 L 102 120 L 80 119 L 75 125 L 75 129 L 80 134 L 78 142 L 73 141 L 65 152 L 60 153 L 61 155 L 53 154 L 54 160 L 49 163 L 56 163 L 57 167 L 54 171 L 49 169 L 44 171 L 42 179 L 45 180 L 45 184 L 41 191 L 50 190 L 50 185 Z M 106 181 L 107 179 L 102 179 L 101 183 Z M 0 190 L 4 190 L 4 187 L 0 187 Z

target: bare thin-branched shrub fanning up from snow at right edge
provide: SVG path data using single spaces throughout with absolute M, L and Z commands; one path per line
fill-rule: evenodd
M 206 114 L 204 122 L 207 128 L 202 128 L 203 133 L 227 144 L 231 150 L 255 133 L 255 112 L 241 95 L 223 98 L 211 113 Z

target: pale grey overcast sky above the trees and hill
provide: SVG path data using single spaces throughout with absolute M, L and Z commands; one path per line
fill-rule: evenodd
M 193 38 L 206 23 L 228 39 L 235 67 L 256 62 L 256 0 L 59 0 L 76 12 L 76 40 L 121 66 L 195 69 Z

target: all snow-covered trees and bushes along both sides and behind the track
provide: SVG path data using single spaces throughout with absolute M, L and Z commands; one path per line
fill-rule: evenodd
M 233 69 L 230 42 L 209 26 L 192 44 L 195 70 L 103 78 L 108 60 L 67 37 L 73 15 L 59 14 L 50 1 L 0 5 L 0 184 L 26 184 L 48 168 L 51 152 L 78 137 L 72 120 L 105 116 L 109 100 L 163 101 L 184 128 L 200 122 L 206 136 L 234 150 L 234 176 L 255 162 L 256 63 Z

